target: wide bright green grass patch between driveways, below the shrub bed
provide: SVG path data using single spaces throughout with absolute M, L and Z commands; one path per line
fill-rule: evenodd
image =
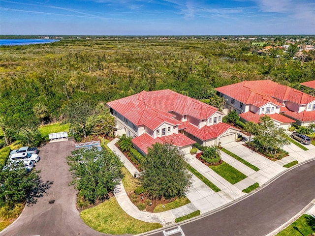
M 230 166 L 224 161 L 221 165 L 209 167 L 218 175 L 229 181 L 231 184 L 235 184 L 247 177 L 242 172 L 236 170 L 234 167 Z

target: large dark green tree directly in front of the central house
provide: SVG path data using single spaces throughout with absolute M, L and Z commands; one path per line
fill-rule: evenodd
M 171 144 L 156 143 L 149 148 L 140 181 L 151 198 L 184 196 L 191 185 L 185 154 Z

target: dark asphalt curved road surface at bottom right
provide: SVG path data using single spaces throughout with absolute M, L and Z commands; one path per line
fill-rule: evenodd
M 243 201 L 181 228 L 186 236 L 265 236 L 314 199 L 315 160 L 292 169 Z M 161 232 L 150 235 L 163 236 Z

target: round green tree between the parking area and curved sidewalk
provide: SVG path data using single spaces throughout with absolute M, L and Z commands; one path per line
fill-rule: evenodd
M 107 149 L 80 148 L 67 157 L 75 187 L 90 204 L 104 200 L 122 178 L 123 163 Z

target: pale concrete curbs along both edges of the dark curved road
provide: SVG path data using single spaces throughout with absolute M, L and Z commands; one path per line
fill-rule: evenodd
M 223 205 L 223 206 L 221 206 L 221 207 L 218 207 L 218 208 L 216 208 L 216 209 L 213 209 L 213 210 L 211 210 L 211 211 L 208 211 L 208 212 L 206 212 L 206 213 L 204 213 L 204 214 L 202 214 L 202 215 L 195 216 L 195 217 L 193 217 L 193 218 L 191 218 L 191 219 L 187 219 L 187 220 L 181 221 L 181 222 L 179 222 L 179 223 L 175 223 L 175 224 L 172 224 L 172 225 L 169 225 L 169 226 L 165 226 L 165 227 L 162 227 L 162 228 L 153 230 L 153 231 L 149 231 L 149 232 L 146 232 L 146 233 L 141 233 L 141 234 L 134 235 L 134 236 L 149 236 L 149 235 L 152 235 L 152 234 L 156 234 L 156 233 L 158 233 L 158 232 L 162 232 L 163 230 L 168 230 L 168 229 L 176 228 L 176 227 L 179 226 L 179 225 L 184 225 L 184 224 L 193 222 L 193 221 L 195 221 L 195 220 L 199 220 L 199 219 L 201 219 L 201 218 L 207 217 L 207 216 L 212 215 L 212 214 L 214 214 L 214 213 L 217 213 L 217 212 L 219 212 L 219 211 L 221 211 L 221 210 L 223 210 L 223 209 L 225 209 L 225 208 L 227 208 L 227 207 L 230 207 L 230 206 L 232 206 L 232 205 L 234 205 L 234 204 L 236 204 L 236 203 L 238 203 L 238 202 L 241 202 L 241 201 L 243 201 L 244 199 L 246 199 L 246 198 L 252 196 L 253 194 L 257 193 L 258 191 L 262 190 L 263 188 L 265 188 L 266 186 L 268 186 L 269 184 L 271 184 L 272 182 L 274 182 L 275 180 L 277 180 L 278 178 L 282 177 L 282 176 L 283 176 L 284 174 L 286 174 L 287 172 L 289 172 L 289 171 L 291 171 L 291 170 L 294 170 L 295 168 L 297 168 L 297 167 L 299 167 L 299 166 L 301 166 L 301 165 L 304 165 L 304 164 L 306 164 L 306 163 L 308 163 L 308 162 L 314 161 L 314 160 L 315 160 L 315 157 L 313 157 L 313 158 L 311 158 L 311 159 L 309 159 L 309 160 L 300 162 L 300 163 L 298 163 L 297 165 L 292 166 L 292 167 L 288 168 L 287 170 L 284 170 L 284 171 L 281 172 L 279 175 L 277 175 L 277 176 L 275 176 L 275 177 L 272 177 L 272 178 L 269 179 L 267 182 L 265 182 L 263 185 L 259 186 L 259 188 L 256 188 L 256 189 L 253 190 L 252 192 L 250 192 L 250 193 L 248 193 L 248 194 L 246 194 L 246 195 L 244 195 L 244 196 L 242 196 L 242 197 L 240 197 L 240 198 L 238 198 L 238 199 L 236 199 L 236 200 L 234 200 L 234 201 L 232 201 L 232 202 L 230 202 L 230 203 L 227 203 L 227 204 L 225 204 L 225 205 Z M 313 201 L 312 201 L 312 202 L 313 202 Z M 306 207 L 304 207 L 300 212 L 302 212 L 303 210 L 304 210 L 304 212 L 306 212 L 306 211 L 311 207 L 311 205 L 313 205 L 312 202 L 311 202 L 310 204 L 308 204 Z M 299 212 L 298 214 L 300 214 L 300 215 L 303 214 L 303 212 L 302 212 L 302 213 L 300 213 L 300 212 Z M 297 214 L 297 215 L 298 215 L 298 214 Z M 296 216 L 297 216 L 297 215 L 296 215 Z M 295 216 L 294 216 L 294 217 L 295 217 Z M 293 217 L 293 218 L 294 218 L 294 217 Z M 292 219 L 293 219 L 293 218 L 292 218 Z M 298 218 L 298 217 L 297 217 L 297 218 Z M 289 221 L 288 221 L 288 222 L 289 222 Z M 286 223 L 288 223 L 288 222 L 286 222 Z M 285 225 L 286 223 L 284 223 L 284 225 Z M 274 231 L 277 231 L 278 229 L 283 228 L 284 225 L 282 225 L 281 227 L 277 228 L 277 229 L 274 230 Z M 288 225 L 287 225 L 287 226 L 288 226 Z M 285 226 L 285 227 L 287 227 L 287 226 Z M 285 228 L 285 227 L 284 227 L 284 228 Z M 273 231 L 273 232 L 274 232 L 274 231 Z M 271 233 L 273 233 L 273 232 L 271 232 Z M 269 234 L 266 235 L 266 236 L 272 236 L 271 233 L 269 233 Z

